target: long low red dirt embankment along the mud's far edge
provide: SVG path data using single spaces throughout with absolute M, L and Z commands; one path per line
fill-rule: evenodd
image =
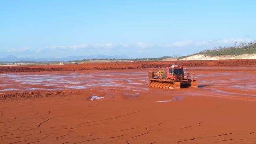
M 120 63 L 83 63 L 78 65 L 34 65 L 34 66 L 0 66 L 1 72 L 40 72 L 62 70 L 114 70 L 167 67 L 171 64 L 180 66 L 251 66 L 256 59 L 231 59 L 213 61 L 136 61 Z

